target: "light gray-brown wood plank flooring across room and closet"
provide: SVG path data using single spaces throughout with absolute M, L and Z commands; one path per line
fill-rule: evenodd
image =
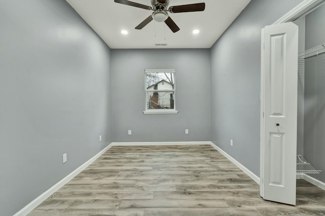
M 325 215 L 325 191 L 297 186 L 297 206 L 269 202 L 210 145 L 114 146 L 28 215 Z

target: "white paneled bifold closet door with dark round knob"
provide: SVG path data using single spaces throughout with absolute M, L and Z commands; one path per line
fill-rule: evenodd
M 296 24 L 281 23 L 262 30 L 261 79 L 261 196 L 296 205 Z

